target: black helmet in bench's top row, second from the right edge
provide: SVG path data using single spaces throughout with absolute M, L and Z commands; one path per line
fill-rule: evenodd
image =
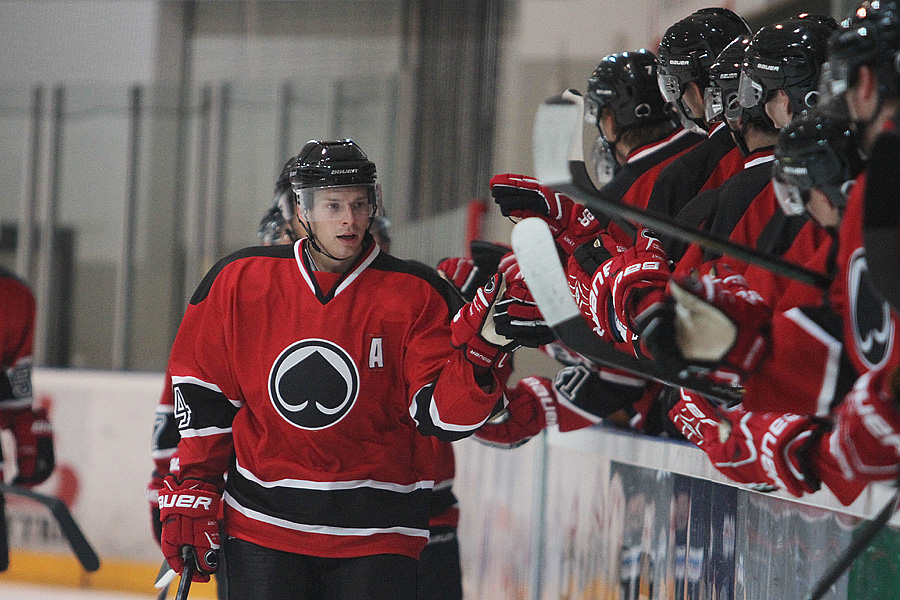
M 794 114 L 815 106 L 828 39 L 836 30 L 831 17 L 803 14 L 757 31 L 741 69 L 741 105 L 765 105 L 784 90 Z

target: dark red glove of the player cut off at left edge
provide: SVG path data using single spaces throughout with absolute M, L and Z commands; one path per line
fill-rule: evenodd
M 53 451 L 53 428 L 43 408 L 20 408 L 3 411 L 3 427 L 16 440 L 16 464 L 19 472 L 15 485 L 27 487 L 43 483 L 56 466 Z

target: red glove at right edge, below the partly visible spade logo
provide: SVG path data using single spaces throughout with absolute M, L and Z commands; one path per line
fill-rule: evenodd
M 900 474 L 898 371 L 869 371 L 835 409 L 831 450 L 847 479 L 886 481 Z

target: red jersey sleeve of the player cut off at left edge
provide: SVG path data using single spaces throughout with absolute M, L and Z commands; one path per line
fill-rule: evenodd
M 28 408 L 33 403 L 35 316 L 29 287 L 0 268 L 0 410 Z

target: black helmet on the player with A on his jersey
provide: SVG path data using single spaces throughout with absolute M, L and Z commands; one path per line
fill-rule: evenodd
M 372 215 L 381 206 L 375 183 L 375 163 L 355 142 L 310 140 L 290 167 L 291 186 L 304 210 L 312 207 L 312 192 L 328 187 L 363 187 L 369 195 Z

